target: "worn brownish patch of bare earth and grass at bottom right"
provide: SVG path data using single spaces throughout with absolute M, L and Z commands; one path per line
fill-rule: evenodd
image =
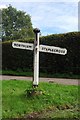
M 41 112 L 33 112 L 25 115 L 24 118 L 28 120 L 80 120 L 78 114 L 78 109 L 69 106 L 61 106 L 59 108 L 52 107 L 51 109 Z

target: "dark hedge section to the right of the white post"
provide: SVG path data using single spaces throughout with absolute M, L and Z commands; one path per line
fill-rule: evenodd
M 43 37 L 41 44 L 67 49 L 67 54 L 40 53 L 40 66 L 48 73 L 80 73 L 80 32 L 56 34 Z M 42 60 L 42 61 L 41 61 Z M 43 70 L 42 67 L 42 70 Z

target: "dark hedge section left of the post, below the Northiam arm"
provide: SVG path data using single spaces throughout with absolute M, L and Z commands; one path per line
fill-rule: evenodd
M 2 49 L 3 49 L 2 50 L 3 69 L 12 70 L 13 68 L 13 70 L 21 69 L 25 71 L 25 70 L 28 70 L 29 68 L 32 68 L 32 65 L 33 65 L 32 51 L 26 51 L 26 50 L 20 50 L 20 49 L 17 49 L 16 51 L 16 49 L 12 48 L 11 42 L 3 43 Z M 7 56 L 4 49 L 7 52 Z

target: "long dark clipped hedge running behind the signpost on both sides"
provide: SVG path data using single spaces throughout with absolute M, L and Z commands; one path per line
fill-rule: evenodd
M 33 43 L 34 39 L 25 42 Z M 40 72 L 80 74 L 80 32 L 43 36 L 40 37 L 40 44 L 62 47 L 68 51 L 65 56 L 40 53 Z M 2 69 L 33 70 L 33 51 L 14 49 L 12 41 L 3 42 Z

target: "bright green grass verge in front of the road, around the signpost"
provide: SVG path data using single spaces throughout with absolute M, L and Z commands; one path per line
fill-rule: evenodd
M 2 81 L 3 118 L 21 118 L 37 113 L 38 118 L 78 117 L 78 87 L 41 82 L 38 90 L 43 94 L 27 96 L 31 81 Z

